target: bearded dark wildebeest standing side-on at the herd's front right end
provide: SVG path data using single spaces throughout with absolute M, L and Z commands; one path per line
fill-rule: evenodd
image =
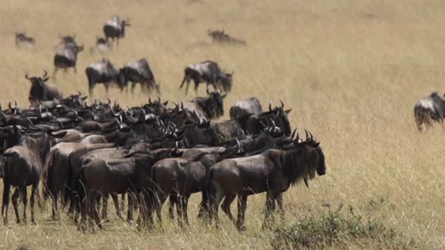
M 218 224 L 218 206 L 225 198 L 223 210 L 236 224 L 238 231 L 245 230 L 244 217 L 247 198 L 251 194 L 267 192 L 266 215 L 263 226 L 268 226 L 275 199 L 291 185 L 308 178 L 315 172 L 326 174 L 325 156 L 319 142 L 312 135 L 299 142 L 297 134 L 288 149 L 268 149 L 255 156 L 234 158 L 216 163 L 209 170 L 209 199 L 212 218 Z M 230 204 L 238 196 L 238 219 L 230 213 Z

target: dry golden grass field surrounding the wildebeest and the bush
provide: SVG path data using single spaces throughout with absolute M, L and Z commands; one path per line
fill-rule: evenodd
M 77 74 L 69 70 L 50 82 L 66 94 L 87 92 L 84 69 L 99 60 L 88 50 L 111 15 L 129 17 L 131 26 L 108 57 L 122 66 L 145 57 L 161 82 L 161 98 L 188 100 L 177 88 L 184 67 L 215 60 L 231 72 L 234 88 L 225 109 L 256 96 L 291 107 L 293 127 L 309 128 L 325 152 L 327 175 L 291 188 L 284 196 L 286 222 L 327 213 L 323 204 L 343 203 L 403 235 L 407 247 L 445 248 L 444 129 L 419 134 L 414 103 L 432 90 L 444 91 L 445 2 L 439 0 L 343 1 L 5 1 L 0 5 L 0 100 L 28 106 L 24 78 L 53 72 L 58 34 L 76 33 L 85 44 Z M 245 47 L 212 44 L 208 28 L 225 28 Z M 37 45 L 16 49 L 15 31 L 26 31 Z M 205 94 L 205 88 L 200 89 Z M 105 99 L 99 86 L 94 97 Z M 111 99 L 140 105 L 147 95 Z M 227 118 L 226 115 L 225 118 Z M 139 232 L 115 217 L 105 231 L 82 234 L 70 219 L 51 222 L 49 203 L 38 225 L 0 226 L 0 249 L 270 249 L 273 231 L 262 231 L 264 195 L 248 199 L 248 231 L 238 233 L 225 215 L 222 230 L 196 219 L 200 197 L 189 206 L 191 226 L 164 220 L 164 230 Z M 236 206 L 232 206 L 236 211 Z M 344 209 L 347 210 L 345 207 Z M 165 215 L 165 214 L 164 214 Z M 320 247 L 320 246 L 318 246 Z M 342 238 L 321 245 L 332 249 L 398 248 L 391 240 Z

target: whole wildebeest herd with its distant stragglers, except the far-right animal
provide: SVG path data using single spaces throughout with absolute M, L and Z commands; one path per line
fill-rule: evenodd
M 129 25 L 129 20 L 112 17 L 104 25 L 105 38 L 97 38 L 97 44 L 111 48 L 111 38 L 117 45 Z M 209 31 L 209 35 L 245 44 L 224 31 Z M 76 72 L 77 54 L 83 50 L 75 35 L 60 39 L 54 76 L 58 69 L 73 67 Z M 20 33 L 16 42 L 35 41 Z M 232 89 L 232 75 L 210 60 L 192 64 L 184 69 L 179 88 L 186 84 L 187 93 L 190 81 L 195 91 L 206 83 L 206 97 L 178 103 L 149 98 L 142 106 L 124 108 L 110 99 L 88 104 L 81 92 L 64 96 L 47 83 L 46 70 L 42 76 L 26 74 L 31 82 L 31 106 L 23 108 L 10 101 L 8 108 L 0 108 L 3 222 L 8 223 L 11 188 L 17 223 L 26 221 L 28 186 L 31 222 L 35 223 L 34 206 L 42 187 L 43 199 L 52 201 L 52 218 L 59 218 L 61 204 L 82 230 L 90 225 L 102 228 L 109 196 L 121 218 L 127 197 L 127 220 L 133 222 L 137 212 L 138 226 L 153 226 L 154 213 L 161 223 L 167 199 L 170 217 L 175 217 L 176 206 L 179 225 L 188 224 L 188 199 L 198 192 L 202 193 L 198 217 L 216 225 L 221 206 L 236 228 L 245 230 L 247 197 L 261 192 L 267 193 L 264 226 L 275 204 L 283 217 L 283 193 L 300 181 L 308 186 L 309 179 L 326 173 L 320 142 L 309 131 L 305 138 L 298 129 L 291 131 L 291 109 L 286 110 L 282 101 L 275 107 L 270 101 L 264 111 L 260 101 L 251 97 L 234 103 L 229 120 L 218 119 L 224 115 L 223 101 Z M 160 93 L 144 58 L 120 69 L 102 59 L 87 67 L 86 76 L 90 94 L 97 83 L 108 92 L 111 84 L 124 90 L 129 82 L 131 90 L 139 83 L 144 90 Z M 121 203 L 118 194 L 122 194 Z M 230 211 L 236 197 L 237 219 Z

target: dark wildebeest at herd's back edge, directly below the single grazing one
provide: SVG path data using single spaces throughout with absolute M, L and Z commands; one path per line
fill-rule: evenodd
M 215 119 L 224 115 L 223 99 L 227 94 L 220 94 L 219 92 L 209 92 L 209 97 L 196 97 L 189 103 L 184 103 L 185 108 L 195 110 L 202 117 L 207 119 Z

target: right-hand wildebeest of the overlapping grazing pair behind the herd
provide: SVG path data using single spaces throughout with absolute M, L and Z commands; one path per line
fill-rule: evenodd
M 127 63 L 122 69 L 120 69 L 120 85 L 122 88 L 131 82 L 131 92 L 133 92 L 136 83 L 140 83 L 142 90 L 156 90 L 159 94 L 159 84 L 156 83 L 152 69 L 150 69 L 147 60 L 141 58 L 131 63 Z M 128 88 L 128 87 L 127 87 Z

